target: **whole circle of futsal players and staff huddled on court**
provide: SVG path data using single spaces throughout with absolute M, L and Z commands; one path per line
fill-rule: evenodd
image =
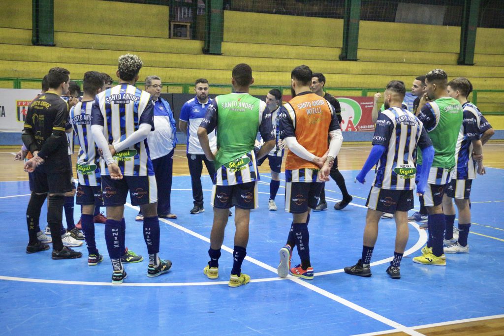
M 69 233 L 62 228 L 65 197 L 74 190 L 76 204 L 81 206 L 82 233 L 78 228 L 72 230 L 75 238 L 86 242 L 89 265 L 103 260 L 96 246 L 94 223 L 99 207 L 106 207 L 105 241 L 113 284 L 121 284 L 127 278 L 125 263 L 143 260 L 125 245 L 123 215 L 128 195 L 131 205 L 140 208 L 137 220 L 143 221 L 149 259 L 147 276 L 160 276 L 172 266 L 170 260 L 159 256 L 159 218 L 176 218 L 170 208 L 177 142 L 175 120 L 171 107 L 160 97 L 159 77 L 147 77 L 146 91 L 135 87 L 142 65 L 135 55 L 120 56 L 116 86 L 107 86 L 103 74 L 87 72 L 83 96 L 69 102 L 60 96 L 69 91 L 70 72 L 51 69 L 44 78 L 46 90 L 28 108 L 22 135 L 24 147 L 32 156 L 25 162 L 32 191 L 27 208 L 27 253 L 47 250 L 47 243 L 52 242 L 53 259 L 82 257 L 81 252 L 71 248 L 78 245 L 67 242 Z M 183 105 L 179 128 L 187 135 L 186 155 L 194 198 L 191 214 L 204 211 L 203 163 L 213 183 L 210 261 L 203 269 L 209 279 L 219 278 L 224 231 L 230 208 L 234 207 L 236 231 L 229 286 L 250 281 L 250 276 L 241 272 L 241 265 L 246 256 L 250 210 L 259 207 L 258 166 L 268 159 L 272 178 L 268 209 L 276 211 L 284 152 L 285 210 L 292 214 L 292 223 L 286 244 L 279 250 L 278 276 L 313 279 L 308 224 L 311 210 L 327 209 L 324 183 L 332 177 L 342 191 L 342 200 L 334 206 L 336 210 L 352 201 L 337 163 L 343 143 L 341 109 L 337 99 L 323 91 L 325 82 L 324 75 L 312 73 L 305 65 L 297 66 L 291 72 L 292 99 L 282 105 L 279 90 L 270 90 L 265 102 L 248 93 L 254 78 L 250 66 L 244 63 L 232 71 L 230 94 L 210 99 L 208 81 L 196 81 L 196 97 Z M 476 173 L 485 173 L 482 145 L 493 130 L 467 100 L 472 85 L 465 78 L 448 82 L 447 74 L 437 69 L 418 77 L 412 91 L 417 95 L 413 113 L 403 104 L 406 88 L 401 81 L 387 85 L 384 106 L 380 111 L 373 110 L 376 124 L 372 150 L 356 181 L 364 183 L 366 173 L 374 166 L 376 170 L 366 201 L 362 257 L 355 265 L 345 267 L 347 274 L 371 276 L 369 264 L 379 220 L 392 214 L 397 234 L 387 273 L 393 279 L 401 277 L 408 220 L 416 218 L 408 218 L 408 211 L 413 209 L 415 184 L 421 211 L 426 214 L 414 216 L 425 216 L 429 239 L 422 255 L 413 261 L 446 265 L 445 253 L 469 252 L 471 182 Z M 69 104 L 73 105 L 70 109 Z M 80 146 L 77 187 L 66 137 L 72 131 Z M 46 197 L 49 237 L 38 225 Z M 452 198 L 459 209 L 458 230 L 454 229 Z M 295 266 L 291 265 L 294 248 L 300 259 Z

